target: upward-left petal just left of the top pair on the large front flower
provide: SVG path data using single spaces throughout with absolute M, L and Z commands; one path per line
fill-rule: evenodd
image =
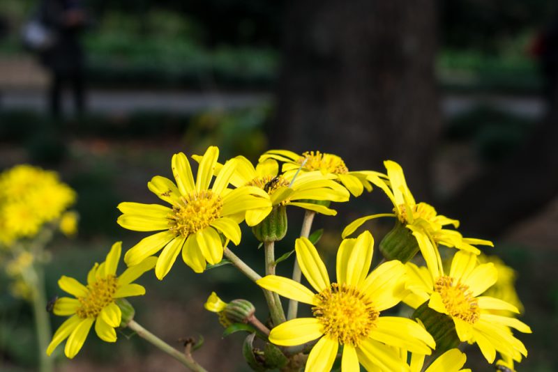
M 318 251 L 307 238 L 296 239 L 294 249 L 296 250 L 296 260 L 299 261 L 301 271 L 318 293 L 329 288 L 330 281 L 327 274 L 326 265 L 319 258 Z

